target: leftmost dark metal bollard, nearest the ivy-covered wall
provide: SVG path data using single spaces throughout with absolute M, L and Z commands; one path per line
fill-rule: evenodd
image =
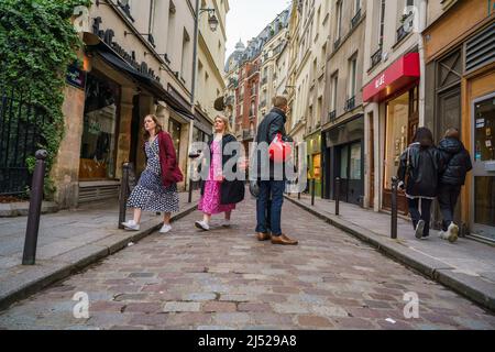
M 34 167 L 31 185 L 30 212 L 28 216 L 28 228 L 25 230 L 24 253 L 22 265 L 34 265 L 36 262 L 37 233 L 40 230 L 41 206 L 43 201 L 43 184 L 45 177 L 45 160 L 48 152 L 37 151 L 35 154 L 36 166 Z

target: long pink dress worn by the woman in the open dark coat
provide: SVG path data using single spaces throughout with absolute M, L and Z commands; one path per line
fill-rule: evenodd
M 211 144 L 213 157 L 211 158 L 210 174 L 205 184 L 205 195 L 199 199 L 198 210 L 207 215 L 216 215 L 235 209 L 235 205 L 220 204 L 220 188 L 222 179 L 222 150 L 220 142 Z

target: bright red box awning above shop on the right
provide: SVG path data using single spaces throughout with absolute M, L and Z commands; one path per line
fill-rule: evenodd
M 363 100 L 383 101 L 419 77 L 419 53 L 406 54 L 363 88 Z

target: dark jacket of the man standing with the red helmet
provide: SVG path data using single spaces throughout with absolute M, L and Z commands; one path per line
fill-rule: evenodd
M 256 133 L 256 143 L 266 143 L 267 145 L 270 145 L 272 143 L 272 141 L 275 139 L 275 136 L 280 133 L 282 134 L 282 139 L 284 141 L 288 141 L 289 138 L 287 135 L 287 132 L 285 131 L 285 123 L 287 121 L 287 117 L 285 114 L 285 112 L 278 108 L 273 108 L 272 111 L 270 111 L 270 113 L 267 116 L 265 116 L 263 118 L 263 121 L 260 123 L 258 128 L 257 128 L 257 133 Z M 262 160 L 261 157 L 265 157 L 268 158 L 270 156 L 266 155 L 261 155 L 262 153 L 257 153 L 256 157 L 256 169 L 257 169 L 257 179 L 261 179 L 262 177 Z M 270 161 L 270 179 L 274 179 L 274 163 L 273 161 Z M 284 167 L 284 165 L 282 165 L 282 167 Z M 285 177 L 285 169 L 284 169 L 284 175 Z

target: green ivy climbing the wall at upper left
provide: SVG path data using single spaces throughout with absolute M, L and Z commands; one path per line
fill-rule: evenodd
M 48 151 L 47 175 L 64 133 L 65 74 L 81 46 L 70 18 L 75 7 L 90 4 L 90 0 L 0 0 L 0 86 L 15 87 L 46 109 L 51 123 L 42 129 L 46 145 L 40 147 Z M 26 164 L 32 169 L 34 157 Z M 53 193 L 53 182 L 45 178 L 45 190 Z

